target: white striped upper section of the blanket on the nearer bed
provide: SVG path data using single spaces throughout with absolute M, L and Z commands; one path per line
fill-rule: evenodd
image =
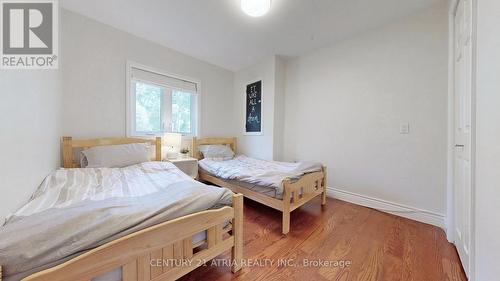
M 7 222 L 86 200 L 140 197 L 189 180 L 169 162 L 145 162 L 125 168 L 59 169 L 45 178 L 29 202 L 9 215 Z

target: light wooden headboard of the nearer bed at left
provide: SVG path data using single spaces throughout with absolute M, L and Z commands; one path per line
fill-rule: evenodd
M 86 139 L 74 140 L 72 137 L 62 138 L 62 156 L 64 168 L 78 168 L 80 163 L 73 159 L 73 149 L 81 148 L 87 149 L 94 146 L 104 145 L 117 145 L 117 144 L 131 144 L 131 143 L 150 143 L 155 147 L 154 161 L 161 161 L 161 137 L 155 139 L 142 139 L 142 138 L 99 138 L 99 139 Z

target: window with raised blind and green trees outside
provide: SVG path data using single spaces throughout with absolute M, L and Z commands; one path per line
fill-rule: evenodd
M 129 66 L 128 134 L 197 132 L 197 84 Z

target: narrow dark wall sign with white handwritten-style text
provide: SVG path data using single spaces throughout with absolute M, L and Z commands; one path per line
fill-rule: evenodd
M 262 80 L 247 85 L 245 132 L 262 133 Z

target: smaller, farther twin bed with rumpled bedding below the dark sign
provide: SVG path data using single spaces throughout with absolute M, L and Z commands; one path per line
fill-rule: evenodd
M 200 146 L 225 145 L 237 154 L 236 138 L 193 138 L 193 157 L 200 159 L 199 179 L 232 190 L 235 193 L 283 213 L 282 232 L 290 231 L 290 213 L 321 196 L 326 205 L 326 167 L 314 163 L 263 161 L 237 156 L 213 161 L 203 159 Z

